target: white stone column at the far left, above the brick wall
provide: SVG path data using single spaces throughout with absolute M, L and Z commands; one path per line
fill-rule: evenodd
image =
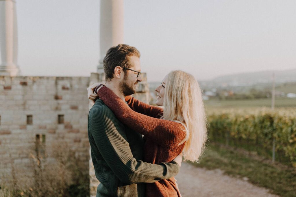
M 17 16 L 15 0 L 0 0 L 1 76 L 17 76 Z

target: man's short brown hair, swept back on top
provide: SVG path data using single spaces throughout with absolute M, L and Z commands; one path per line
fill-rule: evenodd
M 119 44 L 117 46 L 111 47 L 103 60 L 105 78 L 112 79 L 114 74 L 114 69 L 116 66 L 130 68 L 132 65 L 130 64 L 129 57 L 137 56 L 140 58 L 140 52 L 135 47 Z M 126 73 L 126 69 L 124 69 Z

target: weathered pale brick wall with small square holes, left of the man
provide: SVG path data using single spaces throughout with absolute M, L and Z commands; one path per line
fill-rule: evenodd
M 88 86 L 89 77 L 0 76 L 2 178 L 12 171 L 17 177 L 21 177 L 19 172 L 31 173 L 30 153 L 37 135 L 45 145 L 43 155 L 48 161 L 53 144 L 62 142 L 82 160 L 84 173 L 89 173 Z M 32 124 L 27 124 L 27 115 L 32 115 Z M 58 115 L 63 115 L 63 123 L 58 123 Z

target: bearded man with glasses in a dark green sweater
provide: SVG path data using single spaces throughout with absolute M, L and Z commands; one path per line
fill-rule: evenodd
M 104 58 L 106 86 L 123 100 L 142 81 L 139 58 L 139 51 L 125 44 L 111 47 Z M 95 97 L 91 93 L 88 88 L 88 96 Z M 180 158 L 159 165 L 141 161 L 142 135 L 120 123 L 100 99 L 89 111 L 88 135 L 96 178 L 101 182 L 97 196 L 144 196 L 144 183 L 169 179 L 180 170 Z

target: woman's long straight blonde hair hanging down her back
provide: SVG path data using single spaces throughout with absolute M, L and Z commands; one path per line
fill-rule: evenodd
M 207 141 L 207 121 L 202 91 L 189 73 L 171 71 L 168 74 L 163 101 L 163 119 L 181 123 L 186 137 L 180 144 L 185 160 L 199 162 Z

